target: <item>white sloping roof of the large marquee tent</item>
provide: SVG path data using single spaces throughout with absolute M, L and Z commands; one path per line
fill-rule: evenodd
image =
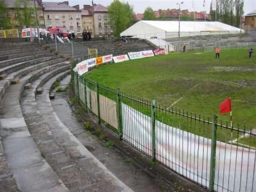
M 179 21 L 140 20 L 123 31 L 120 36 L 178 31 Z M 240 31 L 240 29 L 221 22 L 180 21 L 180 32 L 200 31 Z

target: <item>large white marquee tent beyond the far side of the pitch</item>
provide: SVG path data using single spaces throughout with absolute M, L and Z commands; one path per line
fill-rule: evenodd
M 143 39 L 152 37 L 175 38 L 178 37 L 179 28 L 180 37 L 244 33 L 244 30 L 221 22 L 180 21 L 179 27 L 179 21 L 140 20 L 123 31 L 120 36 L 134 36 Z

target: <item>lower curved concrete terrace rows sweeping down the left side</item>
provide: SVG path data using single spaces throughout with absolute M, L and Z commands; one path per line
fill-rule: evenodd
M 9 191 L 132 192 L 73 136 L 53 111 L 49 99 L 52 84 L 70 72 L 71 61 L 63 59 L 66 58 L 54 57 L 37 64 L 32 61 L 24 68 L 12 64 L 3 70 L 16 69 L 9 74 L 9 80 L 19 76 L 19 81 L 9 84 L 9 80 L 0 80 L 1 84 L 5 82 L 1 85 L 4 94 L 0 95 L 0 159 L 6 165 L 0 172 L 4 179 L 0 177 L 0 182 L 12 186 Z M 25 89 L 28 83 L 31 85 Z M 37 94 L 39 88 L 41 94 Z M 1 187 L 8 189 L 0 185 L 0 190 Z

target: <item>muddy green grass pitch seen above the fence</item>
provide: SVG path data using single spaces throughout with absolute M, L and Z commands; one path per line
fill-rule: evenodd
M 218 115 L 230 122 L 230 113 L 218 106 L 231 97 L 233 123 L 256 128 L 256 53 L 248 49 L 169 55 L 112 63 L 86 74 L 88 79 L 157 103 L 204 116 Z M 248 130 L 248 129 L 247 129 Z

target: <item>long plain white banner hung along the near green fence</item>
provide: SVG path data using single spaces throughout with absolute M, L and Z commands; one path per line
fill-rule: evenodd
M 151 118 L 122 103 L 123 137 L 151 156 Z M 211 139 L 155 121 L 156 159 L 180 175 L 209 187 Z M 217 192 L 256 191 L 256 150 L 217 141 Z M 253 186 L 253 188 L 252 188 Z

